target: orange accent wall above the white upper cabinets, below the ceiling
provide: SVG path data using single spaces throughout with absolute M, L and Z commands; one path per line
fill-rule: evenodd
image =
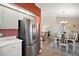
M 41 16 L 41 9 L 37 7 L 34 3 L 15 3 L 16 5 L 31 11 L 37 16 Z

